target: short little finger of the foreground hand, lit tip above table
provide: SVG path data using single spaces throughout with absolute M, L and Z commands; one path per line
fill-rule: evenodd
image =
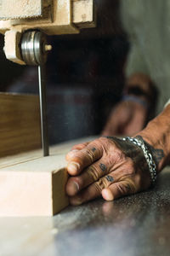
M 131 179 L 122 182 L 112 183 L 107 189 L 102 190 L 102 196 L 106 201 L 113 201 L 124 195 L 131 195 L 137 192 L 137 188 Z

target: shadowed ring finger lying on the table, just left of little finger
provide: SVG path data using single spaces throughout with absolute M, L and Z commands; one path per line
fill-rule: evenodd
M 79 194 L 70 198 L 70 203 L 73 206 L 81 205 L 84 202 L 91 201 L 101 196 L 103 189 L 108 188 L 113 182 L 113 179 L 102 177 L 99 181 L 88 186 L 87 189 L 83 189 Z

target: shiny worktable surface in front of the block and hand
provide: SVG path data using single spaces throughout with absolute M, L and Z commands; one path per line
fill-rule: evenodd
M 67 207 L 54 218 L 0 218 L 0 255 L 170 255 L 170 172 L 155 189 Z

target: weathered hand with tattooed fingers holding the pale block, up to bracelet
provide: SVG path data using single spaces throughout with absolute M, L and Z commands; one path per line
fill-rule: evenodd
M 101 195 L 112 201 L 150 187 L 150 172 L 142 150 L 116 137 L 79 144 L 66 160 L 71 175 L 66 192 L 72 205 Z

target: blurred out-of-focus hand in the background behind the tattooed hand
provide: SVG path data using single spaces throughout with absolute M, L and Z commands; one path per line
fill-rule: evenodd
M 144 128 L 147 109 L 138 102 L 120 102 L 105 125 L 103 136 L 133 136 Z

